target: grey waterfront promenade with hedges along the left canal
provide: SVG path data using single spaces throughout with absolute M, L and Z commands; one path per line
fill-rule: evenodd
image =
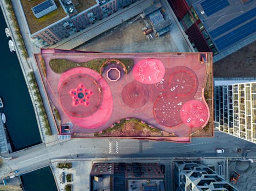
M 13 4 L 13 9 L 14 9 L 15 14 L 23 15 L 22 10 L 19 7 L 19 1 L 12 1 L 12 4 Z M 10 16 L 10 13 L 8 11 L 8 5 L 5 3 L 5 1 L 0 1 L 0 5 L 1 5 L 2 11 L 3 11 L 4 19 L 7 23 L 7 27 L 9 28 L 9 31 L 12 34 L 12 39 L 14 41 L 16 54 L 18 56 L 20 67 L 21 67 L 22 73 L 24 75 L 24 79 L 26 81 L 27 88 L 29 90 L 33 108 L 36 113 L 36 120 L 37 120 L 37 124 L 38 124 L 38 128 L 39 128 L 39 133 L 41 135 L 41 140 L 42 140 L 42 142 L 50 142 L 50 141 L 56 140 L 57 139 L 56 124 L 55 124 L 55 121 L 53 118 L 52 110 L 50 109 L 50 104 L 49 104 L 47 94 L 44 91 L 44 87 L 43 87 L 42 83 L 40 83 L 41 76 L 37 72 L 37 65 L 36 65 L 35 59 L 33 57 L 34 53 L 39 53 L 40 50 L 38 49 L 38 47 L 33 45 L 30 41 L 31 39 L 29 37 L 29 34 L 27 33 L 25 18 L 23 16 L 18 16 L 18 17 L 16 17 L 16 19 L 18 20 L 20 32 L 22 34 L 23 41 L 24 41 L 26 51 L 28 54 L 27 58 L 22 56 L 22 50 L 20 49 L 20 47 L 22 47 L 22 46 L 19 44 L 20 41 L 18 40 L 18 36 L 15 33 L 15 28 L 14 28 L 14 24 L 12 21 L 12 17 Z M 33 97 L 33 91 L 32 91 L 31 85 L 29 83 L 29 77 L 27 76 L 30 72 L 33 72 L 33 74 L 35 75 L 38 89 L 41 94 L 44 108 L 45 108 L 45 111 L 47 112 L 48 121 L 49 121 L 50 127 L 52 127 L 52 133 L 54 136 L 45 135 L 46 130 L 44 128 L 43 118 L 39 115 L 40 109 L 37 107 L 38 104 L 36 103 L 35 98 Z M 49 117 L 49 116 L 52 116 L 52 117 Z

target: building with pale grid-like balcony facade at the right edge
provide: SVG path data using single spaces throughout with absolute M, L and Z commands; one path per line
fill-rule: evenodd
M 256 143 L 256 82 L 218 85 L 214 91 L 217 128 Z

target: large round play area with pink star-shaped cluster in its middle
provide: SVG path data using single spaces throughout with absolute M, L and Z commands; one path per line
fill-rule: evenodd
M 59 89 L 62 109 L 73 117 L 86 117 L 99 109 L 102 102 L 101 86 L 94 77 L 75 74 L 67 77 Z

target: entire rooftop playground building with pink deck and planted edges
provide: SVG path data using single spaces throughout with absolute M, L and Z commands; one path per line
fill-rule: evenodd
M 59 139 L 213 136 L 211 53 L 42 49 L 36 59 Z

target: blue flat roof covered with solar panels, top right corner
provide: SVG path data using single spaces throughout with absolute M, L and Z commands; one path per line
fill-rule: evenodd
M 219 51 L 256 34 L 256 2 L 241 0 L 187 1 L 194 7 Z

